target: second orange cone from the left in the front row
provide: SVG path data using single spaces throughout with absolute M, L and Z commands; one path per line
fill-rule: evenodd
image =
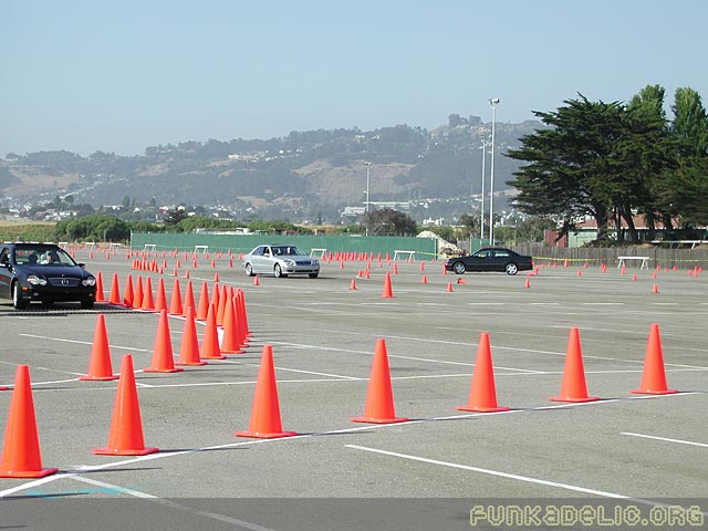
M 108 442 L 104 448 L 91 451 L 97 456 L 145 456 L 158 451 L 157 448 L 145 447 L 131 354 L 124 354 L 121 361 L 121 379 L 115 391 Z

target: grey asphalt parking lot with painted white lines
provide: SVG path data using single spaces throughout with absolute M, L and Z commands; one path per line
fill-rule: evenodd
M 121 290 L 127 274 L 149 275 L 153 287 L 160 277 L 132 270 L 122 253 L 81 250 L 76 259 L 102 272 L 106 295 L 113 273 Z M 15 312 L 0 301 L 0 385 L 12 384 L 18 364 L 29 365 L 42 464 L 60 470 L 0 479 L 2 529 L 499 529 L 504 521 L 494 524 L 483 510 L 472 524 L 472 508 L 530 500 L 632 504 L 649 525 L 664 503 L 708 511 L 706 272 L 541 263 L 531 277 L 467 273 L 457 283 L 439 262 L 423 270 L 419 261 L 398 262 L 394 298 L 382 298 L 393 272 L 385 262 L 372 262 L 368 279 L 357 278 L 366 262 L 332 262 L 315 280 L 259 278 L 253 285 L 226 258 L 212 268 L 200 257 L 196 269 L 166 260 L 168 298 L 175 278 L 185 289 L 187 270 L 195 296 L 215 273 L 243 290 L 252 332 L 246 353 L 144 373 L 157 314 L 105 303 Z M 97 314 L 114 371 L 124 354 L 133 357 L 145 444 L 157 454 L 91 452 L 106 444 L 116 391 L 116 382 L 77 379 Z M 639 385 L 652 323 L 668 387 L 679 393 L 629 393 Z M 169 327 L 176 356 L 184 319 L 170 317 Z M 597 402 L 549 400 L 559 394 L 571 327 L 580 331 Z M 197 330 L 201 339 L 204 324 Z M 468 399 L 481 332 L 508 412 L 456 409 Z M 355 424 L 379 337 L 396 415 L 410 420 Z M 236 437 L 248 427 L 267 344 L 283 429 L 298 435 Z M 11 394 L 0 392 L 2 419 Z M 684 523 L 700 529 L 698 520 Z

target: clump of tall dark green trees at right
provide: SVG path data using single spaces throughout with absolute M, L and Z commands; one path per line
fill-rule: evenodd
M 639 241 L 635 216 L 646 220 L 649 239 L 660 226 L 681 238 L 708 223 L 708 118 L 696 91 L 676 91 L 673 119 L 660 85 L 628 103 L 582 94 L 563 103 L 534 112 L 550 128 L 522 136 L 506 154 L 524 163 L 507 181 L 522 211 L 556 221 L 559 238 L 592 217 L 601 241 L 623 221 L 628 240 Z

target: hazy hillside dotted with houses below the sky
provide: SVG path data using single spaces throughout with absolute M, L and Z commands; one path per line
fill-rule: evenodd
M 96 152 L 84 158 L 69 152 L 39 152 L 0 160 L 3 205 L 35 202 L 70 194 L 74 202 L 122 205 L 221 205 L 235 216 L 339 219 L 344 207 L 366 201 L 414 201 L 420 216 L 434 204 L 457 198 L 470 208 L 481 187 L 481 137 L 490 125 L 456 119 L 433 131 L 398 125 L 293 132 L 269 140 L 233 139 L 153 146 L 145 155 L 122 157 Z M 472 125 L 475 124 L 475 125 Z M 542 125 L 497 124 L 496 190 L 517 163 L 502 156 L 519 137 Z M 487 156 L 489 175 L 489 154 Z M 487 185 L 488 186 L 488 185 Z M 500 198 L 501 200 L 501 198 Z

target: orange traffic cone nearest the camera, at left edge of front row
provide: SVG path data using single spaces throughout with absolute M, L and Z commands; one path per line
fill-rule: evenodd
M 42 468 L 30 368 L 18 365 L 4 428 L 0 478 L 43 478 L 58 471 L 56 468 Z

